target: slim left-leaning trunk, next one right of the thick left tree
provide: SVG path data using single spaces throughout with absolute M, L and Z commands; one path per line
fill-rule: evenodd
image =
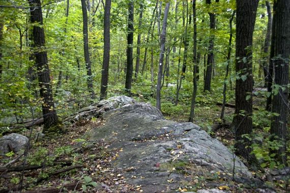
M 88 35 L 88 12 L 86 11 L 85 0 L 81 1 L 81 10 L 82 10 L 82 34 L 83 34 L 83 53 L 84 53 L 84 61 L 86 68 L 86 75 L 88 78 L 86 79 L 88 84 L 89 92 L 91 93 L 92 99 L 95 98 L 95 92 L 93 87 L 93 75 L 92 75 L 92 65 L 90 61 L 90 53 L 89 53 L 89 35 Z

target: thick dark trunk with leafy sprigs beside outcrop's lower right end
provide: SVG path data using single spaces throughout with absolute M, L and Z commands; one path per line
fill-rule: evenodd
M 232 126 L 236 154 L 256 164 L 251 141 L 243 135 L 252 133 L 252 37 L 258 0 L 237 0 L 236 16 L 236 108 Z

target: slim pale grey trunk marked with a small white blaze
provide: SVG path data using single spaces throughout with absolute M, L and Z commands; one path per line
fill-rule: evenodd
M 166 41 L 166 27 L 167 27 L 167 17 L 169 12 L 170 3 L 166 3 L 164 9 L 164 17 L 162 24 L 162 31 L 160 35 L 160 54 L 159 54 L 159 70 L 158 70 L 158 78 L 157 78 L 157 90 L 156 90 L 156 108 L 161 110 L 161 81 L 162 81 L 162 73 L 163 73 L 163 60 L 165 53 L 165 41 Z

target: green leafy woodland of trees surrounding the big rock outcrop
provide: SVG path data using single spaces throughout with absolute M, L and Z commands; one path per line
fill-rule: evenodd
M 126 95 L 199 125 L 260 178 L 269 169 L 290 176 L 289 16 L 288 0 L 1 1 L 0 137 L 31 144 L 21 156 L 1 154 L 0 172 L 17 162 L 44 167 L 49 152 L 79 166 L 67 143 L 105 123 L 68 117 Z M 50 170 L 5 170 L 0 186 L 21 191 Z M 83 176 L 84 192 L 95 187 Z M 271 186 L 287 192 L 290 178 Z

